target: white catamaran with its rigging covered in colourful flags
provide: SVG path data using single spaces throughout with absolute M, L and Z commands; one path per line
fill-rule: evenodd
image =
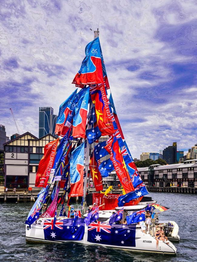
M 35 186 L 42 189 L 25 222 L 26 240 L 176 254 L 170 241 L 159 241 L 157 246 L 154 230 L 145 232 L 140 225 L 145 211 L 155 202 L 142 201 L 149 192 L 117 117 L 99 30 L 85 47 L 85 58 L 72 83 L 77 88 L 59 107 L 55 128 L 59 137 L 45 146 L 38 166 Z M 99 142 L 103 136 L 107 139 Z M 102 178 L 114 170 L 123 194 L 112 194 L 110 189 L 103 192 Z M 95 193 L 87 210 L 90 177 Z M 70 218 L 65 208 L 67 195 L 70 214 L 72 197 L 82 198 L 81 208 Z

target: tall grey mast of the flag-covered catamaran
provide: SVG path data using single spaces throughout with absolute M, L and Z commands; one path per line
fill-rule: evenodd
M 92 31 L 92 29 L 91 29 Z M 97 28 L 96 31 L 94 31 L 94 39 L 99 36 L 99 28 Z M 91 113 L 92 109 L 92 101 L 89 104 L 89 113 L 88 116 Z M 90 125 L 88 124 L 88 129 L 91 128 Z M 90 144 L 87 139 L 87 146 L 86 146 L 86 156 L 85 156 L 85 181 L 84 181 L 84 188 L 83 188 L 83 210 L 82 214 L 85 214 L 85 196 L 87 193 L 87 183 L 88 183 L 88 167 L 89 167 L 89 162 L 90 162 Z

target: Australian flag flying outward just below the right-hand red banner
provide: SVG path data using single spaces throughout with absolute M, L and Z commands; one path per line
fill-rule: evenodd
M 149 194 L 149 191 L 146 189 L 144 183 L 141 183 L 134 191 L 127 193 L 126 195 L 119 196 L 118 206 L 123 206 L 125 203 L 128 203 L 132 199 L 139 198 Z

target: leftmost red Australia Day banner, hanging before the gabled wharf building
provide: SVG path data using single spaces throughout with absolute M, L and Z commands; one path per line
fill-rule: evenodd
M 38 171 L 35 178 L 35 186 L 46 187 L 47 182 L 53 167 L 53 161 L 55 157 L 55 152 L 58 146 L 59 138 L 55 141 L 51 141 L 44 147 L 44 156 L 40 160 Z

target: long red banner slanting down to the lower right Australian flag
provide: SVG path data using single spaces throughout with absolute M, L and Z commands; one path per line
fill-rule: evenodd
M 119 147 L 118 140 L 116 136 L 113 139 L 108 139 L 106 141 L 106 146 L 104 147 L 110 154 L 110 159 L 112 160 L 115 172 L 125 189 L 126 193 L 129 193 L 134 190 L 131 178 L 127 171 L 125 161 L 123 160 L 121 150 Z

